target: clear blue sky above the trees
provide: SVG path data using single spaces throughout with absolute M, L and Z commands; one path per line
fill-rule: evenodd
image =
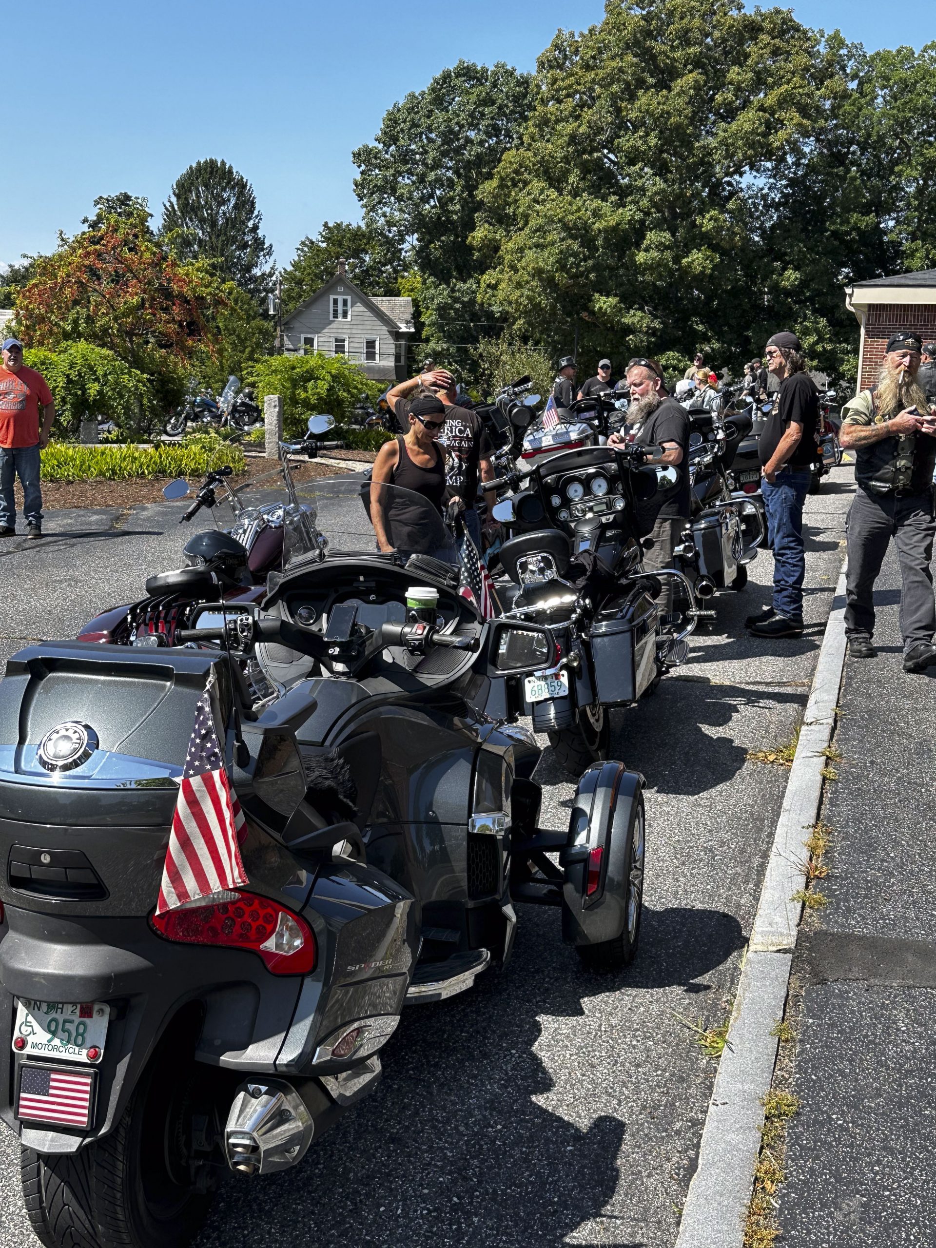
M 895 21 L 880 0 L 801 0 L 812 26 L 867 47 L 936 39 L 936 5 Z M 352 150 L 383 112 L 459 56 L 532 69 L 602 0 L 29 0 L 4 17 L 4 115 L 19 126 L 0 190 L 0 262 L 50 251 L 96 195 L 158 217 L 202 156 L 252 183 L 280 263 L 323 220 L 356 220 Z M 21 51 L 16 51 L 19 39 Z

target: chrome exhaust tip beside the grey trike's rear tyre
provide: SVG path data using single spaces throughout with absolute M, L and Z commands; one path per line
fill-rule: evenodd
M 295 1166 L 314 1134 L 312 1114 L 286 1080 L 251 1080 L 235 1093 L 225 1126 L 225 1157 L 241 1174 Z

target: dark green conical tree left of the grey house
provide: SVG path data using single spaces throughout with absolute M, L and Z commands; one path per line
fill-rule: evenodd
M 272 286 L 273 248 L 261 233 L 253 187 L 227 161 L 196 161 L 172 183 L 161 233 L 186 261 L 212 261 L 220 276 L 255 298 Z

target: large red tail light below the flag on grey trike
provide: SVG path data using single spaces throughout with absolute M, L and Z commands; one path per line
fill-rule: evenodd
M 250 950 L 273 975 L 307 975 L 316 966 L 316 937 L 306 920 L 253 892 L 216 894 L 216 900 L 152 915 L 150 926 L 181 945 Z

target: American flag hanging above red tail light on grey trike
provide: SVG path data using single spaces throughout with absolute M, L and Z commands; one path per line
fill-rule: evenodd
M 156 914 L 247 884 L 237 847 L 245 827 L 225 770 L 208 681 L 195 708 Z

